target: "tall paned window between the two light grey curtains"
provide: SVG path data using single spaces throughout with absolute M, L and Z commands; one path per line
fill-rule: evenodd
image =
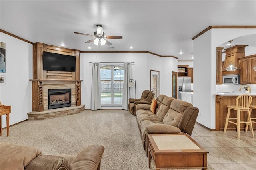
M 100 67 L 101 105 L 122 105 L 124 67 L 105 65 Z

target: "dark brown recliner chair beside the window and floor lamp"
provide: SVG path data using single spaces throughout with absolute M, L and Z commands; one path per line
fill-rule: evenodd
M 134 98 L 130 98 L 129 99 L 129 104 L 128 104 L 128 108 L 129 111 L 132 115 L 136 115 L 136 105 L 138 104 L 149 104 L 151 105 L 152 100 L 154 99 L 155 94 L 150 91 L 150 90 L 144 90 L 142 92 L 142 95 L 140 97 L 140 99 L 134 99 Z

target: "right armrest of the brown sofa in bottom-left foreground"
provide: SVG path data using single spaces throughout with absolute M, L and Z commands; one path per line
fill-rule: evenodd
M 100 144 L 90 145 L 81 150 L 77 155 L 58 155 L 66 158 L 72 170 L 97 170 L 105 148 Z

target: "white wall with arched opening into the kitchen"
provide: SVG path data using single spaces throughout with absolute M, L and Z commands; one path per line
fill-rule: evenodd
M 250 34 L 256 34 L 256 29 L 211 29 L 193 41 L 194 105 L 199 109 L 197 121 L 210 129 L 215 129 L 216 47 Z

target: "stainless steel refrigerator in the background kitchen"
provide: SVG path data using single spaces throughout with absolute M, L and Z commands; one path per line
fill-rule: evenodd
M 181 99 L 180 92 L 191 92 L 191 78 L 178 77 L 177 79 L 177 99 Z

